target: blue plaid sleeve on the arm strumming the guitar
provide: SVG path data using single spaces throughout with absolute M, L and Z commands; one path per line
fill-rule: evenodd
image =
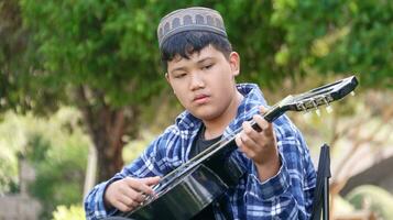
M 148 148 L 130 165 L 122 168 L 108 182 L 103 182 L 94 187 L 85 198 L 84 208 L 86 212 L 86 219 L 101 219 L 108 216 L 112 216 L 117 209 L 106 209 L 103 204 L 103 195 L 107 187 L 119 179 L 131 177 L 150 177 L 162 176 L 167 173 L 165 161 L 165 150 L 161 147 L 167 142 L 167 135 L 165 133 L 153 141 Z

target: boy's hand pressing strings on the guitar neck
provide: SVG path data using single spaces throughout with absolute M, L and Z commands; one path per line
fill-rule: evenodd
M 266 112 L 264 107 L 260 108 L 262 113 Z M 259 177 L 263 182 L 277 174 L 280 169 L 279 148 L 273 124 L 260 114 L 253 116 L 253 120 L 262 131 L 258 132 L 252 129 L 250 122 L 243 122 L 243 131 L 237 135 L 236 143 L 240 151 L 254 162 Z

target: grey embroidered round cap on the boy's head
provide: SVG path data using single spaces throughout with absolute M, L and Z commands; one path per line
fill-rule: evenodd
M 192 7 L 178 9 L 161 19 L 157 28 L 159 45 L 185 31 L 209 31 L 227 37 L 221 14 L 212 9 Z

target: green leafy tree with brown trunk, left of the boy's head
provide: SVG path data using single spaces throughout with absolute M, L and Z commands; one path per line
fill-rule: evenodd
M 50 0 L 20 4 L 41 57 L 41 68 L 32 72 L 50 81 L 44 90 L 66 95 L 55 102 L 81 110 L 97 147 L 99 180 L 122 167 L 122 136 L 135 135 L 142 107 L 164 85 L 153 43 L 157 16 L 145 4 Z

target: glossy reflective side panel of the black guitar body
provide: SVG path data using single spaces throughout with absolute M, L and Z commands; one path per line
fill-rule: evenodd
M 133 219 L 190 219 L 220 196 L 228 186 L 205 165 L 176 179 L 161 197 L 130 215 Z

